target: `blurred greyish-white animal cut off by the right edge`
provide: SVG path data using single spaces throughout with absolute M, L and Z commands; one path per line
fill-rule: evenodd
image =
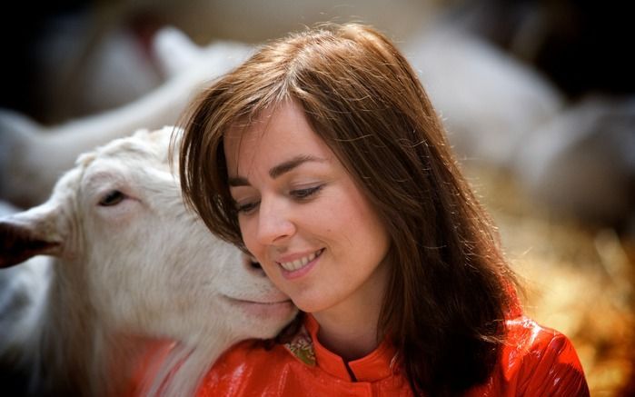
M 635 235 L 635 97 L 585 98 L 511 154 L 513 173 L 539 203 Z

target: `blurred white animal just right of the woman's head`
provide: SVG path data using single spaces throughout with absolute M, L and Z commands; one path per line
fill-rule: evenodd
M 564 107 L 544 76 L 450 22 L 412 36 L 403 51 L 462 161 L 509 167 L 526 137 Z

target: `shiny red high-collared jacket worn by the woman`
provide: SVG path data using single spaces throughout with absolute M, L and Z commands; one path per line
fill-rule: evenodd
M 315 363 L 288 346 L 265 350 L 253 342 L 235 345 L 213 365 L 197 395 L 212 396 L 412 396 L 394 350 L 382 343 L 360 360 L 348 362 L 326 350 L 316 338 L 310 315 L 305 328 L 313 341 Z M 580 360 L 569 339 L 520 316 L 507 322 L 507 343 L 487 382 L 468 396 L 588 396 Z M 354 377 L 354 381 L 353 378 Z

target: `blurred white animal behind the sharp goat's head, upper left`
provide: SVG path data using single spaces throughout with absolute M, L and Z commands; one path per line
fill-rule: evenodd
M 55 126 L 0 111 L 0 198 L 21 207 L 42 203 L 77 155 L 138 128 L 176 124 L 193 94 L 250 51 L 229 42 L 199 47 L 167 27 L 155 36 L 154 52 L 170 77 L 134 102 Z

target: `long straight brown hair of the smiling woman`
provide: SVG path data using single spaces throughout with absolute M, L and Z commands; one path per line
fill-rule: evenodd
M 392 236 L 378 324 L 416 393 L 484 382 L 498 360 L 514 277 L 403 55 L 365 25 L 322 25 L 263 46 L 193 104 L 180 157 L 185 200 L 243 245 L 223 134 L 293 100 Z

